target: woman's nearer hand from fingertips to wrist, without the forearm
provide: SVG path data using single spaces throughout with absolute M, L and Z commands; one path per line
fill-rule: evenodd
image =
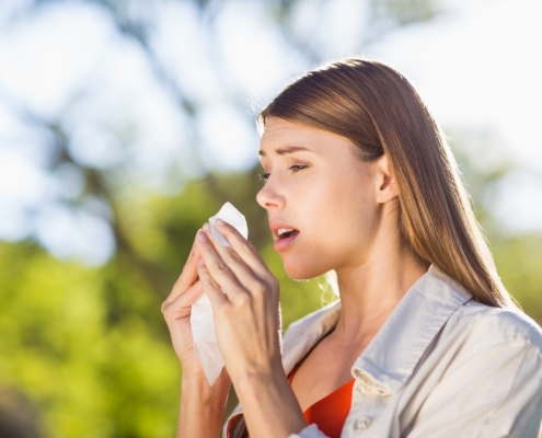
M 218 243 L 206 223 L 196 238 L 197 272 L 228 373 L 233 384 L 242 376 L 284 374 L 278 280 L 233 227 L 221 220 L 216 226 L 231 246 Z

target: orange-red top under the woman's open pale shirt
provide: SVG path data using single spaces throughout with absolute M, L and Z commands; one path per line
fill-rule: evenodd
M 300 365 L 301 362 L 297 364 L 288 376 L 290 384 Z M 309 406 L 303 413 L 307 424 L 315 424 L 330 438 L 341 438 L 341 431 L 350 411 L 354 380 Z

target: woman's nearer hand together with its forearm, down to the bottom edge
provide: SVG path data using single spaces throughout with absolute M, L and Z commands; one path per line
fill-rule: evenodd
M 252 244 L 217 220 L 230 246 L 204 226 L 196 238 L 197 272 L 215 313 L 226 369 L 253 437 L 288 437 L 307 426 L 280 355 L 278 280 Z

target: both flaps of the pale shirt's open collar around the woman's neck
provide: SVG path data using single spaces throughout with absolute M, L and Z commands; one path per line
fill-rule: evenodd
M 351 368 L 366 395 L 399 391 L 448 319 L 472 296 L 430 266 L 405 293 L 397 307 Z M 341 315 L 335 301 L 292 324 L 285 334 L 282 365 L 289 373 Z

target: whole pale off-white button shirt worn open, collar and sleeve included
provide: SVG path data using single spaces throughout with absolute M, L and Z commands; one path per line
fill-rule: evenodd
M 287 374 L 339 315 L 336 301 L 288 327 Z M 351 374 L 356 381 L 342 438 L 538 438 L 541 433 L 542 331 L 519 311 L 475 302 L 434 266 L 406 292 Z M 230 419 L 240 413 L 238 406 Z M 237 438 L 229 423 L 224 436 Z M 290 436 L 324 437 L 316 425 Z

